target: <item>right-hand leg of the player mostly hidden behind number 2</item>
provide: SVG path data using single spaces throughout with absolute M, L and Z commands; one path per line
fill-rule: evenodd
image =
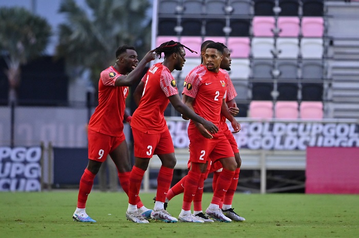
M 237 189 L 238 178 L 240 176 L 240 169 L 242 164 L 240 153 L 234 153 L 234 157 L 235 157 L 235 161 L 237 162 L 237 168 L 235 169 L 234 177 L 232 179 L 231 185 L 229 186 L 225 194 L 224 202 L 222 206 L 222 212 L 223 214 L 226 215 L 226 217 L 230 218 L 233 221 L 244 222 L 246 221 L 246 219 L 238 215 L 235 211 L 233 211 L 234 208 L 232 208 L 234 192 Z

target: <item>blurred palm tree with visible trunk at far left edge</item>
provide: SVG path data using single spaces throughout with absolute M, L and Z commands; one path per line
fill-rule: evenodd
M 24 8 L 0 8 L 0 53 L 8 69 L 9 104 L 17 102 L 21 65 L 44 52 L 51 36 L 46 19 Z

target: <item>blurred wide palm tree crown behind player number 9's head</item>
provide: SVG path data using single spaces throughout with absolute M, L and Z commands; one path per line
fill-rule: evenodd
M 99 73 L 114 63 L 121 45 L 136 47 L 138 55 L 150 46 L 150 21 L 146 23 L 148 0 L 86 0 L 89 11 L 74 0 L 63 0 L 60 13 L 67 16 L 59 26 L 57 56 L 66 60 L 69 75 L 90 70 L 97 88 Z M 91 15 L 89 15 L 91 13 Z

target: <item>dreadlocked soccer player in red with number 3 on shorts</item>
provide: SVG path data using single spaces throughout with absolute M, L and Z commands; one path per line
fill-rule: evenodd
M 179 113 L 201 124 L 206 131 L 204 137 L 213 138 L 212 134 L 218 131 L 217 126 L 195 114 L 178 95 L 176 81 L 171 72 L 182 70 L 186 61 L 184 48 L 187 47 L 172 40 L 156 48 L 155 53 L 160 58 L 164 53 L 165 59 L 163 63 L 150 67 L 134 92 L 138 104 L 131 122 L 135 164 L 130 174 L 129 204 L 126 211 L 126 218 L 132 222 L 148 223 L 139 215 L 136 204 L 143 176 L 153 155 L 159 157 L 162 166 L 158 172 L 156 201 L 151 218 L 168 223 L 177 222 L 177 219 L 164 209 L 166 193 L 176 164 L 172 138 L 164 118 L 168 103 L 171 102 Z

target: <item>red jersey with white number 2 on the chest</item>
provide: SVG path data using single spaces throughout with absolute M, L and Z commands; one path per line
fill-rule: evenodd
M 223 98 L 226 97 L 228 74 L 199 67 L 186 77 L 183 94 L 194 98 L 194 112 L 220 127 L 220 114 Z M 190 126 L 193 122 L 190 122 Z

